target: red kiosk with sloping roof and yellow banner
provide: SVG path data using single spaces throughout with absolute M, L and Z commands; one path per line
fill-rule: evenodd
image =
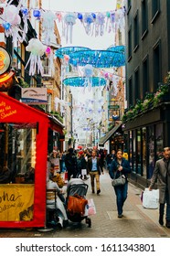
M 0 227 L 44 227 L 48 130 L 46 113 L 0 92 Z

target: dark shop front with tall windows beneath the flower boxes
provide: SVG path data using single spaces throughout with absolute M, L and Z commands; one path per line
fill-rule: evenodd
M 131 180 L 139 187 L 148 187 L 155 161 L 163 156 L 164 147 L 170 146 L 170 104 L 142 113 L 123 123 L 123 127 L 132 166 Z

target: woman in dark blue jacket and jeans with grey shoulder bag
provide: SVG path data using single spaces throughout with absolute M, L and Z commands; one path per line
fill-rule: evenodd
M 112 164 L 110 166 L 109 175 L 113 179 L 119 176 L 124 176 L 126 179 L 126 183 L 122 186 L 114 187 L 114 191 L 116 194 L 116 202 L 117 202 L 117 210 L 118 210 L 118 218 L 122 218 L 122 207 L 127 198 L 128 191 L 128 174 L 131 173 L 131 166 L 129 161 L 122 157 L 122 150 L 118 149 L 116 153 L 116 157 L 112 160 Z

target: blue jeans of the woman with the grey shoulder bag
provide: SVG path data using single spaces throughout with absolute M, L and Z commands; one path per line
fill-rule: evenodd
M 124 201 L 127 198 L 127 190 L 128 190 L 127 182 L 123 186 L 114 187 L 114 191 L 116 194 L 118 215 L 122 215 L 122 207 L 123 207 Z

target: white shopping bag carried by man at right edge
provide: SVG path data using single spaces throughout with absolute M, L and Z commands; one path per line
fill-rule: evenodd
M 159 189 L 145 188 L 143 191 L 143 208 L 159 207 Z

